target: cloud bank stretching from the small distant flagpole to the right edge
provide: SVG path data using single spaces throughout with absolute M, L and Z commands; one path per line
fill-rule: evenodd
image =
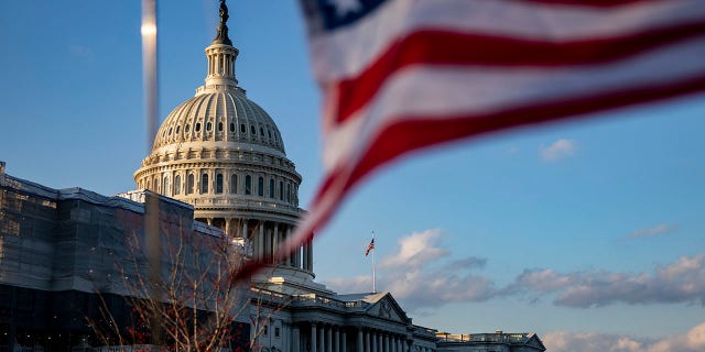
M 414 232 L 398 242 L 398 250 L 382 257 L 377 284 L 393 293 L 411 311 L 451 302 L 485 301 L 497 297 L 551 299 L 556 306 L 604 307 L 615 304 L 648 305 L 699 302 L 705 305 L 705 253 L 682 256 L 652 272 L 573 271 L 527 268 L 503 286 L 481 271 L 487 260 L 454 258 L 443 246 L 440 230 Z M 336 277 L 325 280 L 341 293 L 369 292 L 371 277 Z

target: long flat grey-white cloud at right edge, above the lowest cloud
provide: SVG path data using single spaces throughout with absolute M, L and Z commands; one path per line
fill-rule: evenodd
M 653 273 L 572 272 L 525 270 L 502 288 L 511 296 L 556 294 L 558 306 L 587 308 L 616 302 L 697 302 L 705 305 L 705 253 L 682 256 Z

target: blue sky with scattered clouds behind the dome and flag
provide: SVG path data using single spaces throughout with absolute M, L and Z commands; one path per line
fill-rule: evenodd
M 305 207 L 322 143 L 296 3 L 231 2 L 238 79 L 278 122 Z M 159 6 L 163 119 L 203 84 L 218 19 L 215 0 Z M 0 3 L 8 173 L 105 195 L 134 188 L 147 155 L 140 11 L 139 1 Z M 405 158 L 319 233 L 317 280 L 371 289 L 364 252 L 376 231 L 378 288 L 415 323 L 535 331 L 553 351 L 565 341 L 694 351 L 705 346 L 703 131 L 699 95 Z

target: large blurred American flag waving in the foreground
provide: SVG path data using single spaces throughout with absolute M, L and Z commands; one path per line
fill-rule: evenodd
M 426 146 L 705 90 L 704 0 L 300 0 L 326 175 L 286 251 Z

